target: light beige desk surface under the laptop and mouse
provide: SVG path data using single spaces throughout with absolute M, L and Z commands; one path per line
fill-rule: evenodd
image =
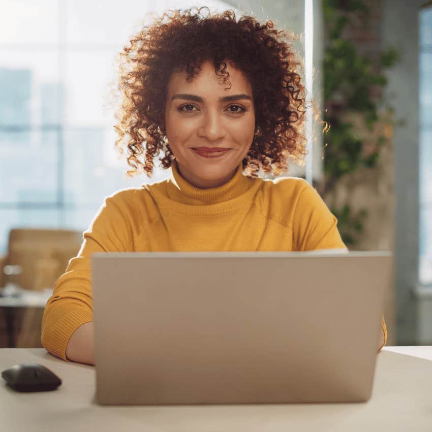
M 65 362 L 44 349 L 0 349 L 1 371 L 33 362 L 49 367 L 63 384 L 55 391 L 19 393 L 2 380 L 2 432 L 432 431 L 432 347 L 385 347 L 372 398 L 349 404 L 99 406 L 94 366 Z

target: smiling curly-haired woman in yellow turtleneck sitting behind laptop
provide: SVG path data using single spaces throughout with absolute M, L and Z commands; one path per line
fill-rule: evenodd
M 43 346 L 64 360 L 94 364 L 94 252 L 347 250 L 310 184 L 257 174 L 305 155 L 305 91 L 286 34 L 201 9 L 165 13 L 121 53 L 116 145 L 127 145 L 130 175 L 150 177 L 162 150 L 172 176 L 109 196 L 83 233 L 42 321 Z

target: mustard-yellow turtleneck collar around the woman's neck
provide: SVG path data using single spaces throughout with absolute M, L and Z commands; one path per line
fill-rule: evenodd
M 196 188 L 185 180 L 178 171 L 176 159 L 171 164 L 171 170 L 172 176 L 167 184 L 168 198 L 183 204 L 217 204 L 244 194 L 251 186 L 251 180 L 243 175 L 241 162 L 231 180 L 216 188 L 208 189 Z

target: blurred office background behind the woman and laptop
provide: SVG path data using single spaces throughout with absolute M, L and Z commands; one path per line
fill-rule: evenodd
M 351 251 L 393 252 L 387 345 L 431 345 L 432 2 L 3 0 L 0 347 L 42 346 L 43 307 L 104 198 L 171 174 L 125 175 L 109 95 L 130 37 L 192 6 L 294 33 L 316 110 L 286 175 L 313 184 Z

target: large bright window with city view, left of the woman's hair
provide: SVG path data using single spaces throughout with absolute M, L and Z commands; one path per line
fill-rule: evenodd
M 210 10 L 237 10 L 217 0 Z M 105 196 L 153 177 L 128 178 L 104 107 L 114 57 L 130 35 L 186 1 L 11 0 L 0 14 L 0 254 L 18 226 L 88 227 Z M 199 6 L 197 4 L 197 6 Z

